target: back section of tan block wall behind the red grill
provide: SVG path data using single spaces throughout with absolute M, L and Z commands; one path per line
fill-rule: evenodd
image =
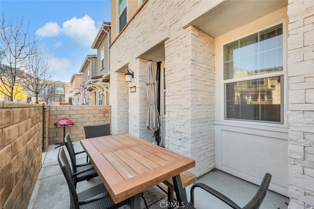
M 58 105 L 49 107 L 49 144 L 63 142 L 63 128 L 54 123 L 68 118 L 74 125 L 67 127 L 72 141 L 85 139 L 84 126 L 107 124 L 111 122 L 110 105 Z

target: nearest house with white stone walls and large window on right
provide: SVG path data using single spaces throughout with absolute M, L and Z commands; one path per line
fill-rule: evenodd
M 269 172 L 289 208 L 314 207 L 313 8 L 307 0 L 111 0 L 112 134 L 152 140 L 147 61 L 161 61 L 167 149 L 195 159 L 197 176 L 217 168 L 259 184 Z

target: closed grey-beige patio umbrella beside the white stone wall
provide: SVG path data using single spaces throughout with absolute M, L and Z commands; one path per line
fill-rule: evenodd
M 157 131 L 161 126 L 157 110 L 157 79 L 152 60 L 147 63 L 146 94 L 148 101 L 146 126 L 149 130 Z

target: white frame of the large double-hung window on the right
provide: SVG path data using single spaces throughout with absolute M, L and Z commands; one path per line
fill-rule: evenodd
M 241 77 L 241 78 L 229 78 L 229 79 L 225 79 L 224 75 L 224 46 L 228 45 L 234 41 L 249 37 L 251 35 L 253 35 L 254 33 L 259 33 L 262 32 L 264 30 L 270 29 L 271 27 L 274 26 L 278 26 L 278 25 L 282 25 L 282 50 L 283 50 L 283 69 L 281 71 L 274 71 L 274 72 L 269 72 L 267 74 L 259 74 L 259 75 L 254 75 L 254 76 L 246 76 L 246 77 Z M 271 24 L 268 26 L 265 26 L 263 28 L 259 28 L 255 31 L 250 31 L 248 33 L 246 33 L 245 35 L 239 36 L 236 39 L 232 39 L 232 40 L 228 40 L 227 42 L 223 43 L 221 45 L 221 67 L 222 67 L 222 74 L 221 74 L 221 80 L 222 80 L 222 93 L 223 93 L 223 97 L 222 97 L 222 104 L 223 104 L 223 108 L 222 108 L 222 119 L 224 121 L 234 121 L 234 122 L 247 122 L 247 123 L 256 123 L 256 124 L 261 124 L 261 123 L 266 123 L 266 124 L 273 124 L 273 125 L 284 125 L 286 124 L 286 115 L 285 115 L 285 109 L 287 106 L 287 77 L 286 77 L 286 69 L 287 69 L 287 24 L 285 21 L 279 21 L 275 24 Z M 280 122 L 276 122 L 276 121 L 262 121 L 262 120 L 247 120 L 247 119 L 237 119 L 237 118 L 227 118 L 227 89 L 226 89 L 226 84 L 228 83 L 233 83 L 233 82 L 241 82 L 241 81 L 248 81 L 251 83 L 251 80 L 257 80 L 257 79 L 266 79 L 266 78 L 272 78 L 272 77 L 280 77 L 281 78 L 281 89 L 280 89 Z

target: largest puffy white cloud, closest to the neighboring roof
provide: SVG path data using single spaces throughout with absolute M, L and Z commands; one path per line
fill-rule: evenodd
M 97 34 L 98 29 L 95 21 L 88 15 L 82 18 L 72 18 L 63 23 L 62 32 L 72 38 L 77 44 L 90 47 Z

